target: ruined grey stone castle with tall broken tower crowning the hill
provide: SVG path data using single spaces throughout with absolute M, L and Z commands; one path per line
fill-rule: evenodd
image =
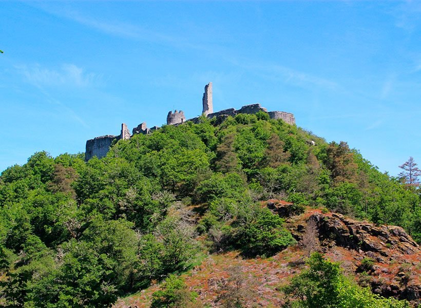
M 266 108 L 260 106 L 260 104 L 252 104 L 246 105 L 241 107 L 240 109 L 236 110 L 234 108 L 224 109 L 221 111 L 214 112 L 213 101 L 212 101 L 212 82 L 209 82 L 205 86 L 205 90 L 202 97 L 202 115 L 205 115 L 207 118 L 212 119 L 216 118 L 216 123 L 222 123 L 228 117 L 235 117 L 235 115 L 240 113 L 247 113 L 253 114 L 259 111 L 266 112 L 269 114 L 271 119 L 275 120 L 282 120 L 285 123 L 290 125 L 295 124 L 295 117 L 294 114 L 285 112 L 285 111 L 267 111 Z M 184 111 L 175 110 L 174 112 L 171 110 L 168 112 L 167 115 L 167 125 L 180 125 L 186 121 L 192 121 L 194 123 L 199 123 L 199 117 L 188 119 L 186 120 Z M 151 127 L 150 129 L 147 128 L 145 122 L 139 124 L 137 127 L 133 128 L 132 134 L 148 134 L 154 130 L 159 129 L 158 126 Z M 121 124 L 121 132 L 118 136 L 113 135 L 105 135 L 101 137 L 96 137 L 94 139 L 90 139 L 86 141 L 86 151 L 85 151 L 85 160 L 88 161 L 92 157 L 96 156 L 98 158 L 103 158 L 107 155 L 110 146 L 114 141 L 118 141 L 120 139 L 129 140 L 132 136 L 130 135 L 130 131 L 127 128 L 126 124 Z

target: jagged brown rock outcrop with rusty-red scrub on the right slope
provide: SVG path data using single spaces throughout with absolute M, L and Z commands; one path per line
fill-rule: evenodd
M 414 306 L 420 304 L 421 271 L 418 267 L 421 249 L 403 228 L 377 226 L 340 214 L 315 213 L 308 219 L 310 221 L 316 223 L 322 251 L 329 254 L 338 247 L 346 249 L 352 256 L 355 274 L 358 276 L 362 271 L 368 271 L 367 285 L 374 293 L 407 299 Z M 300 240 L 302 234 L 303 225 L 298 224 L 295 237 Z M 362 265 L 364 258 L 373 260 L 371 268 Z

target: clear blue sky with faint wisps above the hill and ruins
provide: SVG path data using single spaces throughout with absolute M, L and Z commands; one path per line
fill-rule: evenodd
M 2 2 L 0 170 L 260 103 L 391 175 L 421 164 L 421 3 Z

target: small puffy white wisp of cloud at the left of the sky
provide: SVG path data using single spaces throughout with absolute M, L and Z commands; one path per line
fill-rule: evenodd
M 87 73 L 83 68 L 74 64 L 63 64 L 56 69 L 42 67 L 38 64 L 19 65 L 15 66 L 15 69 L 24 75 L 27 82 L 34 85 L 88 87 L 99 84 L 102 79 L 101 75 Z

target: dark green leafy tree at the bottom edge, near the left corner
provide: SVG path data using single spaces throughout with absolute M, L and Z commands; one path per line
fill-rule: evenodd
M 58 269 L 34 285 L 37 307 L 110 307 L 117 300 L 107 258 L 86 242 L 71 241 Z

